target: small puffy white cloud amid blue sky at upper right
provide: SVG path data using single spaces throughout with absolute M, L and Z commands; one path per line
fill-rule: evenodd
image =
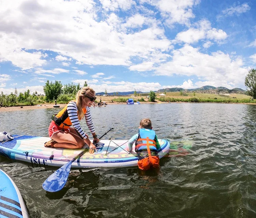
M 209 20 L 200 20 L 196 25 L 198 28 L 191 27 L 187 31 L 178 33 L 176 35 L 175 41 L 195 43 L 204 38 L 219 41 L 224 40 L 227 37 L 227 33 L 225 33 L 223 30 L 211 28 L 211 23 Z

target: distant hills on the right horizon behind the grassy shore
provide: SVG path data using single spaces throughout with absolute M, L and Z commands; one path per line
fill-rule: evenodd
M 166 88 L 166 89 L 159 89 L 156 91 L 156 93 L 163 93 L 163 92 L 198 92 L 198 93 L 210 93 L 210 94 L 231 94 L 231 93 L 239 93 L 239 94 L 245 94 L 245 90 L 239 89 L 239 88 L 234 88 L 234 89 L 228 89 L 225 87 L 214 87 L 211 85 L 205 85 L 201 88 L 197 89 L 182 89 L 182 88 Z

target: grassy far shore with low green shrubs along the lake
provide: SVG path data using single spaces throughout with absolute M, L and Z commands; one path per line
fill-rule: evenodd
M 144 95 L 144 94 L 143 94 Z M 133 98 L 134 102 L 149 103 L 146 96 L 97 96 L 95 103 L 100 101 L 107 103 L 125 103 L 128 98 Z M 60 94 L 57 98 L 57 104 L 67 104 L 75 99 L 75 94 Z M 217 95 L 217 94 L 202 94 L 202 93 L 180 93 L 173 92 L 167 93 L 167 96 L 156 97 L 156 103 L 159 102 L 194 102 L 194 103 L 240 103 L 240 104 L 256 104 L 256 100 L 248 95 L 232 94 L 232 95 Z M 152 102 L 153 103 L 153 102 Z M 27 92 L 20 93 L 18 96 L 11 93 L 10 95 L 0 94 L 0 107 L 13 107 L 13 106 L 33 106 L 33 105 L 46 105 L 55 104 L 55 100 L 47 101 L 45 96 L 38 96 L 35 93 L 32 95 Z M 42 108 L 42 107 L 41 107 Z

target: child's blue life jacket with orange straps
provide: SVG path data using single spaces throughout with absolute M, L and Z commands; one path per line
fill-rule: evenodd
M 135 152 L 157 152 L 156 133 L 152 129 L 139 129 L 138 140 L 135 142 Z

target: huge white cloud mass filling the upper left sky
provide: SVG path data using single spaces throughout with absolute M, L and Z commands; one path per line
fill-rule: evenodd
M 128 10 L 136 5 L 132 0 L 102 0 L 101 3 L 109 10 Z M 180 10 L 183 6 L 175 8 Z M 148 26 L 126 32 L 108 20 L 111 15 L 104 14 L 106 19 L 103 16 L 99 21 L 100 9 L 92 0 L 13 0 L 2 4 L 0 44 L 5 46 L 1 48 L 0 61 L 11 61 L 22 69 L 41 67 L 46 63 L 42 60 L 45 53 L 28 50 L 47 50 L 59 54 L 57 61 L 73 59 L 79 65 L 130 66 L 133 57 L 151 59 L 171 49 L 164 28 L 155 21 L 149 22 L 154 19 L 134 15 L 128 18 L 128 26 L 141 26 L 144 21 Z M 140 21 L 134 20 L 139 16 Z

